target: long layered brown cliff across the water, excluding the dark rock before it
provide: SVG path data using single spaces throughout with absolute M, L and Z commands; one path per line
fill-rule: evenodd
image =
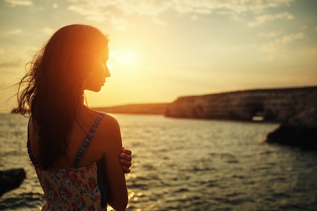
M 167 106 L 169 117 L 284 122 L 312 107 L 317 87 L 248 90 L 203 96 L 180 97 Z M 309 98 L 307 98 L 309 96 Z

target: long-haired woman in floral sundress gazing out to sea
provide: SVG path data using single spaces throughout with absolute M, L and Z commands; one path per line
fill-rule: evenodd
M 31 112 L 27 147 L 46 197 L 42 210 L 126 209 L 131 151 L 122 148 L 116 119 L 84 105 L 84 90 L 99 92 L 110 76 L 108 56 L 100 30 L 65 26 L 19 83 L 18 111 Z

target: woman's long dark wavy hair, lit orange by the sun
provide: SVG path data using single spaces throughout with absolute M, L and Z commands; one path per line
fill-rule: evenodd
M 67 150 L 69 134 L 84 102 L 84 85 L 108 37 L 83 24 L 60 28 L 28 63 L 18 83 L 17 112 L 30 110 L 38 135 L 34 165 L 44 170 Z

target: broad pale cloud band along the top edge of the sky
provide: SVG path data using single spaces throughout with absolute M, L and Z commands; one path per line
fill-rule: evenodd
M 110 20 L 110 17 L 129 17 L 131 15 L 150 16 L 151 20 L 162 26 L 167 25 L 167 22 L 160 18 L 165 12 L 172 11 L 176 14 L 189 14 L 189 17 L 194 17 L 192 20 L 200 20 L 199 16 L 212 14 L 227 15 L 236 21 L 244 20 L 246 14 L 262 14 L 267 9 L 290 6 L 294 0 L 68 0 L 70 5 L 68 10 L 77 14 L 86 16 L 87 20 L 103 22 Z M 285 12 L 275 15 L 258 15 L 253 22 L 248 23 L 250 26 L 261 25 L 267 21 L 275 19 L 293 19 L 294 17 Z M 115 21 L 113 21 L 115 22 Z M 120 26 L 126 28 L 125 25 Z

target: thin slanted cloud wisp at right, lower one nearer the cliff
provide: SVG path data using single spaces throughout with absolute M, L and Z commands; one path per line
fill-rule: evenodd
M 305 34 L 303 32 L 293 33 L 289 35 L 285 35 L 281 38 L 276 38 L 270 43 L 262 44 L 258 46 L 260 51 L 264 52 L 274 52 L 280 50 L 283 46 L 288 45 L 296 40 L 305 38 Z

